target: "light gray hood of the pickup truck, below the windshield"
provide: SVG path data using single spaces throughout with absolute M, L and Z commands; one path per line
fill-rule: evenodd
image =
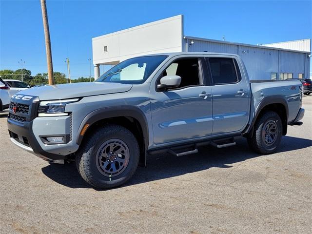
M 81 82 L 30 88 L 21 91 L 20 94 L 37 96 L 40 100 L 53 100 L 123 93 L 129 91 L 131 88 L 132 84 Z

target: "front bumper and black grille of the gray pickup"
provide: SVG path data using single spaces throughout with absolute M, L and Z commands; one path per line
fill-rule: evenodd
M 27 98 L 30 99 L 11 99 L 7 120 L 11 141 L 44 160 L 71 159 L 79 147 L 72 140 L 72 114 L 61 117 L 37 117 L 39 98 L 31 96 Z M 66 136 L 66 142 L 50 144 L 44 141 L 44 137 L 59 135 Z

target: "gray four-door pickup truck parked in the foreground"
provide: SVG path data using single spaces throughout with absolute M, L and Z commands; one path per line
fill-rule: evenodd
M 125 183 L 149 154 L 194 154 L 246 137 L 276 151 L 304 115 L 299 80 L 250 81 L 233 54 L 171 53 L 125 60 L 96 82 L 51 85 L 12 96 L 13 143 L 44 160 L 76 161 L 97 188 Z

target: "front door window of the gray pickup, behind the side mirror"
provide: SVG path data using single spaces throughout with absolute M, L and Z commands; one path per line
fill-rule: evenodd
M 177 59 L 163 71 L 162 76 L 176 75 L 181 77 L 180 86 L 177 89 L 202 84 L 199 75 L 199 59 Z

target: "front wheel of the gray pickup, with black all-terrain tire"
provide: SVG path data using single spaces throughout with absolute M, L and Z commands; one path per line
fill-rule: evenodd
M 86 137 L 76 154 L 78 172 L 86 182 L 107 189 L 133 176 L 139 161 L 139 147 L 128 129 L 110 124 Z

